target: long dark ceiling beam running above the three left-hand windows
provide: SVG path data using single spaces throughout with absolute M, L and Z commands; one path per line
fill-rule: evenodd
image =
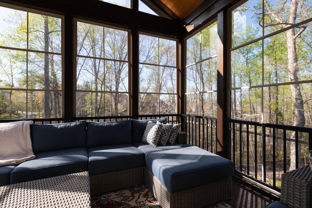
M 116 27 L 161 33 L 178 38 L 184 28 L 181 23 L 99 0 L 0 0 L 0 2 L 56 14 L 69 14 L 75 18 L 99 22 Z M 103 10 L 105 8 L 105 10 Z

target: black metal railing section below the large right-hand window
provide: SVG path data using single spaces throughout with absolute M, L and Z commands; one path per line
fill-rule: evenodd
M 251 180 L 280 191 L 281 171 L 284 173 L 309 164 L 312 128 L 233 119 L 225 121 L 229 155 L 235 171 Z

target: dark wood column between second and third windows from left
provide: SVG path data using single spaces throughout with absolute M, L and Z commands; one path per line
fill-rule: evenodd
M 138 119 L 139 114 L 139 32 L 131 30 L 131 115 Z

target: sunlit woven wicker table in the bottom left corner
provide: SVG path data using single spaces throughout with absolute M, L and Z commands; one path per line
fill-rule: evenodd
M 91 207 L 88 172 L 2 186 L 0 207 Z

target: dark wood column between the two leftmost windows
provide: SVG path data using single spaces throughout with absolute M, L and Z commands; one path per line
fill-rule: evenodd
M 71 15 L 64 17 L 64 120 L 65 123 L 73 122 L 74 113 L 74 21 Z

